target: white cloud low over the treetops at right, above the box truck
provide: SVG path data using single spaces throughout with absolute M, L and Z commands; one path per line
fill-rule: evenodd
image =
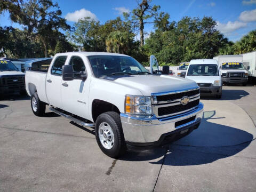
M 227 23 L 221 23 L 217 21 L 216 29 L 219 30 L 223 34 L 230 33 L 232 31 L 235 31 L 237 29 L 246 27 L 247 23 L 241 22 L 241 21 L 228 21 Z

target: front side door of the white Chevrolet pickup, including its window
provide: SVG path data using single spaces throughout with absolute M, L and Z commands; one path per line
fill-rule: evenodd
M 88 119 L 90 75 L 82 79 L 79 72 L 87 73 L 84 60 L 79 56 L 72 56 L 67 65 L 73 66 L 74 79 L 63 81 L 61 84 L 61 96 L 63 109 L 69 113 Z

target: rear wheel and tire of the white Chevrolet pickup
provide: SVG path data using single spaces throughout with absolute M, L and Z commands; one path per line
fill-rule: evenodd
M 39 116 L 39 117 L 44 116 L 45 103 L 39 100 L 37 93 L 34 93 L 31 96 L 30 103 L 31 103 L 31 109 L 36 116 Z

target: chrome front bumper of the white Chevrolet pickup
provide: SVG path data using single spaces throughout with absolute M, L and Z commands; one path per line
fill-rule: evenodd
M 126 142 L 151 143 L 157 142 L 166 133 L 183 130 L 195 122 L 199 123 L 203 116 L 203 103 L 200 102 L 196 109 L 186 113 L 165 118 L 156 118 L 155 116 L 138 118 L 123 113 L 120 116 Z M 175 122 L 193 116 L 196 116 L 194 121 L 175 127 Z

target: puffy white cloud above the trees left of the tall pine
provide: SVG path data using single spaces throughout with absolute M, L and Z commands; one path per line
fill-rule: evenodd
M 68 13 L 66 15 L 65 19 L 67 19 L 68 21 L 77 22 L 78 19 L 83 19 L 85 17 L 90 17 L 90 18 L 94 19 L 95 21 L 98 21 L 98 18 L 96 17 L 96 15 L 86 9 L 76 10 L 73 13 Z

